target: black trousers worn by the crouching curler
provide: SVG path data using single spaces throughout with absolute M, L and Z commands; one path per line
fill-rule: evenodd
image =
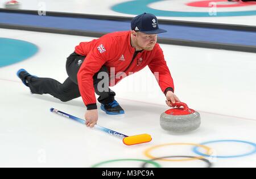
M 84 60 L 86 60 L 85 56 L 80 56 L 76 53 L 72 53 L 67 58 L 66 70 L 69 77 L 63 84 L 51 78 L 28 78 L 28 86 L 30 87 L 31 92 L 39 95 L 50 94 L 64 102 L 80 97 L 79 86 L 77 85 L 77 73 Z M 108 74 L 108 68 L 102 66 L 98 73 L 100 72 Z M 108 88 L 108 91 L 98 91 L 98 83 L 101 80 L 104 80 L 104 78 L 97 78 L 98 73 L 93 76 L 94 90 L 97 95 L 100 96 L 98 97 L 100 103 L 109 104 L 114 101 L 115 92 L 110 90 L 110 88 Z

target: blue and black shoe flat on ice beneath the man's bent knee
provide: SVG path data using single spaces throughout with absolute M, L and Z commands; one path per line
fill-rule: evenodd
M 101 104 L 101 109 L 110 115 L 125 114 L 125 111 L 115 100 L 109 104 Z

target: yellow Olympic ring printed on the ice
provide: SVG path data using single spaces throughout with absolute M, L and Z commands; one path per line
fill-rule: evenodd
M 177 146 L 177 145 L 188 145 L 188 146 L 201 147 L 201 148 L 205 149 L 207 155 L 212 154 L 212 149 L 211 148 L 209 148 L 207 146 L 200 145 L 200 144 L 195 144 L 195 143 L 167 143 L 167 144 L 161 144 L 161 145 L 158 145 L 158 146 L 153 146 L 153 147 L 148 148 L 146 151 L 144 151 L 144 155 L 146 155 L 150 159 L 156 159 L 156 158 L 159 158 L 160 156 L 159 157 L 154 157 L 154 156 L 150 155 L 150 152 L 152 150 L 154 150 L 156 148 L 159 148 L 159 147 L 163 147 L 163 146 Z M 203 158 L 204 158 L 204 156 L 193 157 L 191 159 L 158 159 L 158 160 L 162 160 L 162 161 L 191 161 L 191 160 L 200 160 L 200 159 L 203 159 Z

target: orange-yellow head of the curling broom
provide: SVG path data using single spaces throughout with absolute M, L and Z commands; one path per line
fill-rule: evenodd
M 141 134 L 141 135 L 133 135 L 126 138 L 123 138 L 123 143 L 127 146 L 139 144 L 139 143 L 146 143 L 152 140 L 149 134 Z

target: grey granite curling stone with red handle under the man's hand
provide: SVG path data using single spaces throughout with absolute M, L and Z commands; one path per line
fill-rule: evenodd
M 167 131 L 185 133 L 200 127 L 200 114 L 189 109 L 185 103 L 175 103 L 177 108 L 169 109 L 160 116 L 160 126 Z M 183 106 L 183 108 L 180 108 Z

